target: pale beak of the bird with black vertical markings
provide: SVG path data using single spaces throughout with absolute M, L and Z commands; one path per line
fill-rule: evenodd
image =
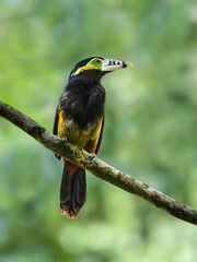
M 129 67 L 134 67 L 132 63 L 116 59 L 104 59 L 102 61 L 101 71 L 112 72 L 118 69 Z

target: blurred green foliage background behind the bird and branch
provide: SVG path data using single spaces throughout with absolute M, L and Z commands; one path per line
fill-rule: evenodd
M 53 130 L 73 66 L 106 75 L 100 158 L 197 207 L 197 4 L 192 0 L 0 0 L 0 100 Z M 194 262 L 196 227 L 88 174 L 76 221 L 60 215 L 62 163 L 0 119 L 0 261 Z

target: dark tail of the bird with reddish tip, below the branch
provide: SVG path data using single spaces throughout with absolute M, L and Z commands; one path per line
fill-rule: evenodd
M 86 199 L 85 170 L 65 160 L 60 188 L 60 212 L 76 218 Z

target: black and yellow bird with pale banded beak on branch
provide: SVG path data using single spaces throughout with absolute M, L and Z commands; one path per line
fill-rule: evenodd
M 78 62 L 59 98 L 53 133 L 96 155 L 104 127 L 105 90 L 101 79 L 106 73 L 129 67 L 132 63 L 102 57 L 90 57 Z M 56 157 L 61 159 L 58 155 Z M 85 200 L 85 170 L 63 158 L 60 213 L 76 218 Z

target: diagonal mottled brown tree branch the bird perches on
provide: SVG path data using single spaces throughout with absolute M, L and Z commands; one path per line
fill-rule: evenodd
M 89 170 L 96 177 L 150 202 L 177 218 L 197 225 L 196 210 L 193 210 L 192 207 L 175 201 L 162 192 L 157 191 L 148 184 L 134 179 L 118 169 L 115 169 L 97 157 L 92 156 L 84 150 L 59 139 L 33 119 L 2 102 L 0 102 L 0 116 L 28 133 L 48 150 Z

